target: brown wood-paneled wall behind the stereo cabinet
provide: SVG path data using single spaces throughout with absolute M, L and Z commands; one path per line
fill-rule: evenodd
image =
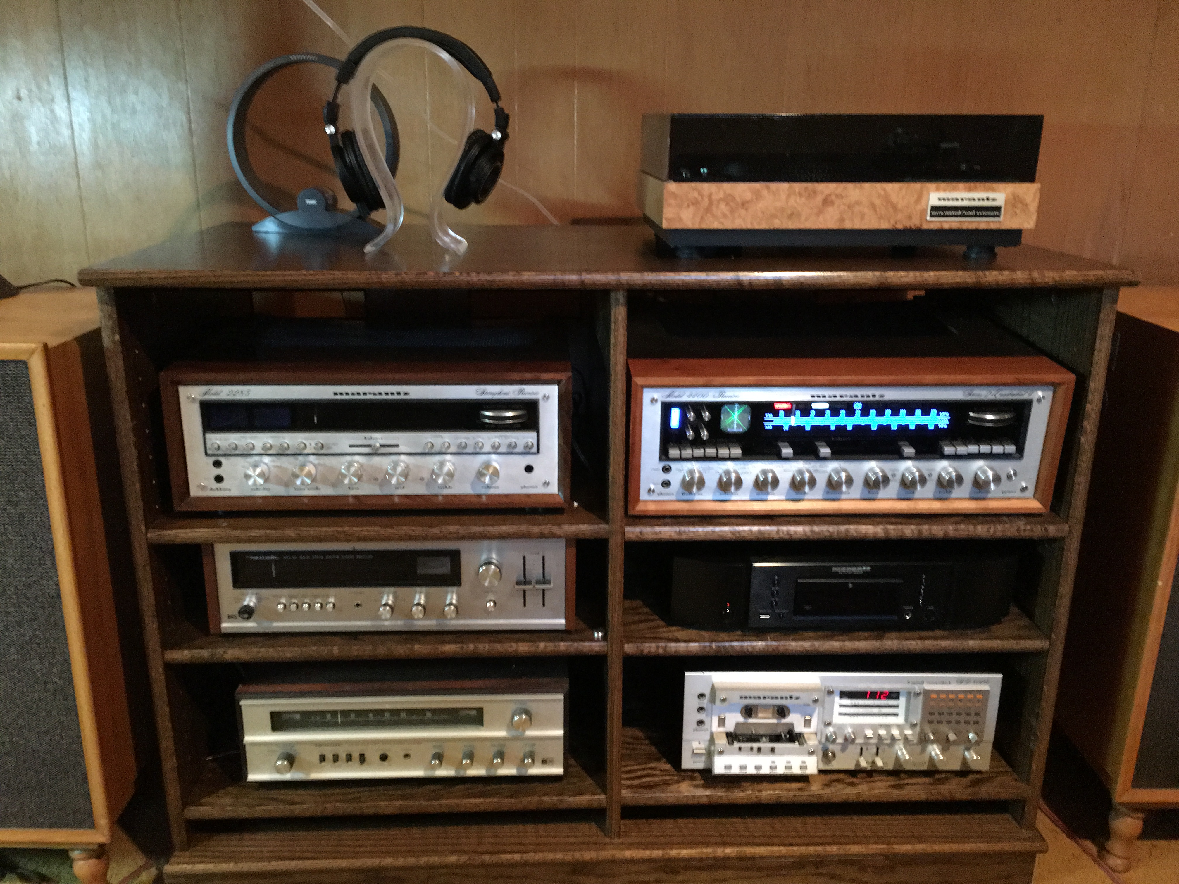
M 1027 239 L 1179 282 L 1179 0 L 320 2 L 353 39 L 426 25 L 468 41 L 512 114 L 503 180 L 561 222 L 638 213 L 645 111 L 1042 113 Z M 246 72 L 301 50 L 347 52 L 301 0 L 0 4 L 0 273 L 72 277 L 261 217 L 230 167 L 225 116 Z M 420 220 L 453 159 L 455 92 L 419 51 L 378 85 Z M 289 193 L 343 197 L 318 118 L 329 91 L 325 68 L 303 67 L 255 103 L 255 165 Z M 501 186 L 457 220 L 545 218 Z

